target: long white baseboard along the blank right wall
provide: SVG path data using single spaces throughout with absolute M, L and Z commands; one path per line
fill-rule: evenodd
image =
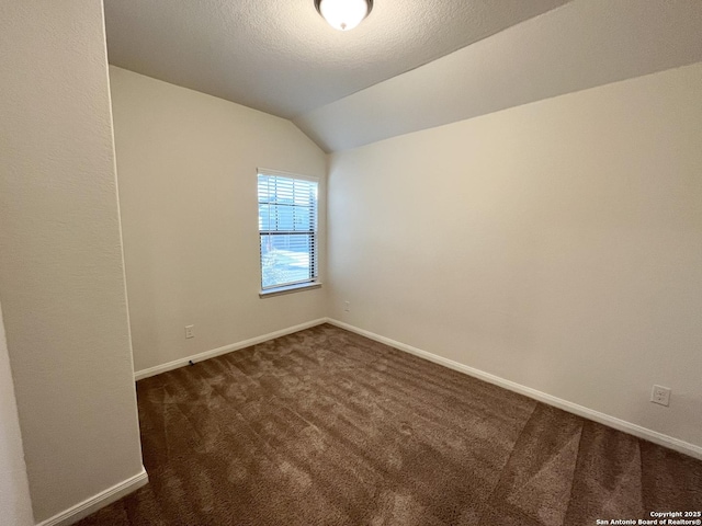
M 605 414 L 605 413 L 600 413 L 599 411 L 595 411 L 584 405 L 579 405 L 577 403 L 563 400 L 562 398 L 553 397 L 545 392 L 537 391 L 536 389 L 522 386 L 521 384 L 517 384 L 514 381 L 507 380 L 499 376 L 485 373 L 480 369 L 476 369 L 474 367 L 460 364 L 458 362 L 454 362 L 452 359 L 438 356 L 427 351 L 422 351 L 421 348 L 412 347 L 411 345 L 407 345 L 405 343 L 390 340 L 389 338 L 381 336 L 380 334 L 375 334 L 364 329 L 359 329 L 358 327 L 350 325 L 349 323 L 344 323 L 342 321 L 338 321 L 331 318 L 327 319 L 326 321 L 328 323 L 331 323 L 332 325 L 339 327 L 341 329 L 346 329 L 347 331 L 355 332 L 356 334 L 361 334 L 362 336 L 369 338 L 371 340 L 375 340 L 376 342 L 384 343 L 399 351 L 414 354 L 415 356 L 419 356 L 420 358 L 428 359 L 429 362 L 433 362 L 434 364 L 443 365 L 444 367 L 449 367 L 450 369 L 457 370 L 458 373 L 463 373 L 465 375 L 472 376 L 474 378 L 478 378 L 489 384 L 503 387 L 505 389 L 509 389 L 510 391 L 518 392 L 520 395 L 532 398 L 540 402 L 546 403 L 548 405 L 553 405 L 558 409 L 563 409 L 564 411 L 567 411 L 569 413 L 577 414 L 578 416 L 582 416 L 588 420 L 592 420 L 600 424 L 607 425 L 609 427 L 613 427 L 624 433 L 629 433 L 630 435 L 637 436 L 645 441 L 653 442 L 654 444 L 658 444 L 659 446 L 664 446 L 669 449 L 675 449 L 676 451 L 683 453 L 691 457 L 702 459 L 702 447 L 695 446 L 694 444 L 680 441 L 679 438 L 675 438 L 669 435 L 664 435 L 663 433 L 658 433 L 657 431 L 653 431 L 647 427 L 642 427 L 641 425 L 626 422 L 625 420 L 621 420 L 615 416 L 610 416 L 609 414 Z

